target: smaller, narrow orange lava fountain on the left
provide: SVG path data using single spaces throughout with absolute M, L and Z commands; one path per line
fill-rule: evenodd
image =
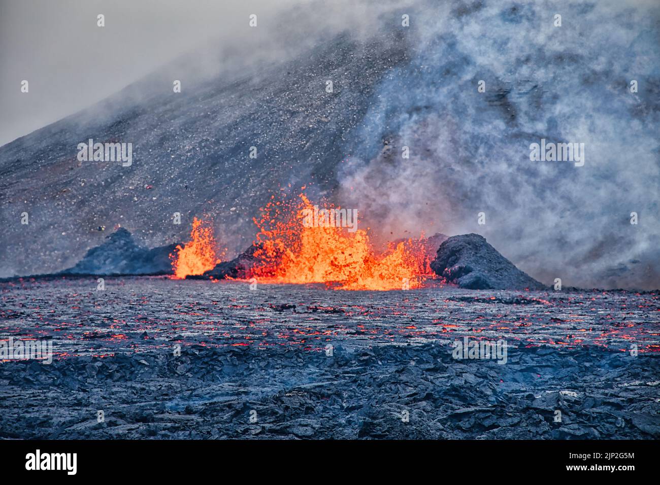
M 175 279 L 183 279 L 188 275 L 202 275 L 220 263 L 216 255 L 216 244 L 211 224 L 198 218 L 193 218 L 193 229 L 190 241 L 176 247 L 172 259 Z M 222 256 L 222 255 L 220 255 Z

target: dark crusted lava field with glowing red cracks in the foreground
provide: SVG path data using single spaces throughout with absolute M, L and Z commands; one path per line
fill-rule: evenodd
M 657 292 L 96 286 L 0 283 L 0 338 L 55 353 L 0 363 L 0 437 L 660 436 Z M 464 336 L 506 340 L 506 364 L 455 360 Z

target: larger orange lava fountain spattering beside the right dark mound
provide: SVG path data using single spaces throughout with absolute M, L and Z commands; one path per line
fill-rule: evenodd
M 261 282 L 325 283 L 341 290 L 418 288 L 432 276 L 421 239 L 389 244 L 387 251 L 376 253 L 366 230 L 306 226 L 306 210 L 313 207 L 301 194 L 298 204 L 271 201 L 262 209 L 254 222 L 259 228 L 255 256 L 263 263 L 252 276 Z

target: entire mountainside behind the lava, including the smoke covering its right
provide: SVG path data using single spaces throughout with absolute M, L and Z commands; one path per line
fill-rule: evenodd
M 100 226 L 182 241 L 205 212 L 238 253 L 259 207 L 306 185 L 381 238 L 479 232 L 541 281 L 660 287 L 660 5 L 372 4 L 293 60 L 172 67 L 0 147 L 0 276 L 70 267 Z M 133 143 L 132 165 L 79 162 L 88 139 Z M 542 140 L 583 164 L 531 160 Z

